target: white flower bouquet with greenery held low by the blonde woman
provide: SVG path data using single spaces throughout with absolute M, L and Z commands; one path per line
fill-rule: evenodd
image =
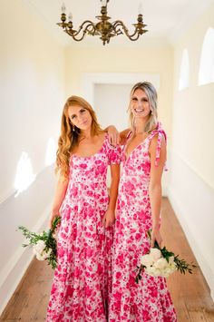
M 148 235 L 151 238 L 151 231 L 148 232 Z M 141 257 L 141 266 L 136 268 L 138 274 L 135 281 L 138 283 L 141 280 L 141 272 L 143 271 L 153 277 L 168 278 L 175 270 L 179 270 L 182 274 L 185 274 L 186 271 L 192 274 L 192 268 L 196 268 L 196 265 L 179 259 L 179 255 L 175 256 L 165 246 L 160 249 L 159 244 L 155 241 L 154 248 L 150 250 L 150 253 Z

